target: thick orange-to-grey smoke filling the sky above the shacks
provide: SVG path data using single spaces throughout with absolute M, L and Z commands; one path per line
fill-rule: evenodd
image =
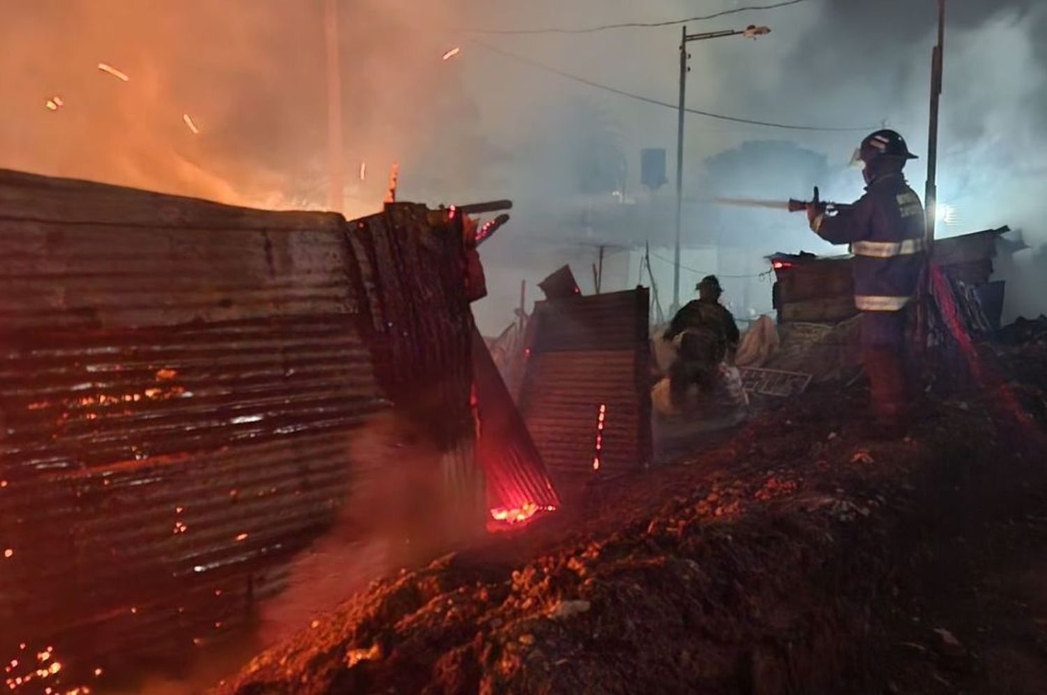
M 242 204 L 325 206 L 324 2 L 0 0 L 0 166 Z M 533 283 L 572 262 L 587 282 L 603 241 L 670 245 L 671 216 L 641 208 L 670 207 L 672 185 L 642 189 L 639 152 L 668 150 L 673 177 L 673 110 L 505 53 L 673 103 L 680 27 L 526 36 L 466 29 L 656 21 L 742 4 L 750 2 L 340 0 L 347 214 L 379 207 L 394 161 L 403 199 L 514 199 L 513 222 L 483 250 L 492 297 L 476 309 L 488 333 L 511 320 L 521 277 Z M 691 31 L 749 23 L 773 31 L 757 42 L 692 44 L 688 105 L 798 125 L 886 122 L 926 155 L 935 9 L 934 0 L 807 0 L 691 23 Z M 944 233 L 1010 224 L 1032 245 L 1047 238 L 1038 195 L 1047 182 L 1045 29 L 1047 7 L 1039 0 L 949 2 L 939 194 L 960 223 Z M 453 46 L 461 53 L 442 61 Z M 99 62 L 130 82 L 98 71 Z M 55 95 L 63 106 L 48 111 Z M 827 197 L 852 199 L 861 178 L 846 162 L 864 134 L 688 116 L 685 195 L 694 204 L 685 243 L 730 243 L 751 255 L 828 250 L 797 216 L 745 217 L 701 201 L 714 193 L 801 196 L 816 183 Z M 822 158 L 823 167 L 808 166 Z M 922 190 L 923 161 L 909 174 Z M 815 175 L 820 180 L 809 180 Z M 593 212 L 615 195 L 634 203 L 617 227 Z

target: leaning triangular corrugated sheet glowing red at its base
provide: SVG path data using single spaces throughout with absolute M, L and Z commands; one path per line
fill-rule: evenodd
M 553 481 L 524 418 L 498 373 L 480 331 L 473 333 L 472 368 L 476 391 L 476 459 L 487 477 L 487 507 L 525 510 L 559 507 Z

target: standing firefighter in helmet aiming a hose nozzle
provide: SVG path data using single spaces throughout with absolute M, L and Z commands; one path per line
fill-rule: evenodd
M 836 215 L 822 204 L 809 205 L 807 219 L 822 239 L 851 246 L 873 414 L 886 431 L 897 433 L 911 405 L 905 371 L 907 309 L 927 263 L 923 205 L 901 173 L 916 156 L 891 130 L 869 135 L 854 156 L 863 165 L 865 195 Z

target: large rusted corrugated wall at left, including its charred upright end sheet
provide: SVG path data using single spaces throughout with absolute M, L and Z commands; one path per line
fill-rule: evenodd
M 0 658 L 170 658 L 247 621 L 389 400 L 478 496 L 462 244 L 424 223 L 0 172 Z

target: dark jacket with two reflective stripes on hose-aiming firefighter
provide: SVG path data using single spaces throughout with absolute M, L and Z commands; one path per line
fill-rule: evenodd
M 862 311 L 900 311 L 916 292 L 925 264 L 923 205 L 900 173 L 873 180 L 866 194 L 811 228 L 854 253 L 854 305 Z

